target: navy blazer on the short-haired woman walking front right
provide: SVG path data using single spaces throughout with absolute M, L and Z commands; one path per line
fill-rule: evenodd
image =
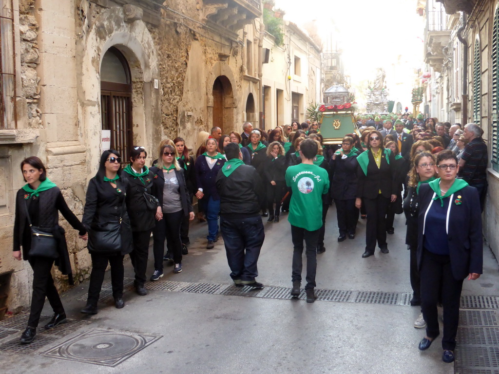
M 418 269 L 421 270 L 424 243 L 424 223 L 428 206 L 432 200 L 433 190 L 428 184 L 419 187 L 418 215 Z M 456 204 L 457 196 L 461 196 L 461 204 Z M 482 274 L 484 243 L 482 237 L 482 211 L 480 197 L 475 187 L 466 186 L 454 193 L 449 212 L 448 232 L 449 256 L 451 258 L 452 275 L 456 280 L 464 279 L 469 273 Z M 431 238 L 430 238 L 431 239 Z

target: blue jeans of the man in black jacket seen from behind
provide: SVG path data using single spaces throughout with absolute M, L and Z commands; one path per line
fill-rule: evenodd
M 265 239 L 261 217 L 220 217 L 220 230 L 224 238 L 227 260 L 235 283 L 254 282 L 258 276 L 256 262 Z

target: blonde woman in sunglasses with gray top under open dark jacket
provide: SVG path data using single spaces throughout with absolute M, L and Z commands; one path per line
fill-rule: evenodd
M 152 194 L 161 207 L 156 213 L 157 222 L 153 228 L 154 273 L 151 281 L 163 277 L 165 240 L 169 253 L 167 259 L 173 259 L 173 272 L 178 274 L 182 271 L 180 227 L 185 216 L 194 219 L 184 169 L 180 167 L 176 155 L 175 146 L 165 144 L 160 149 L 157 166 L 151 168 Z

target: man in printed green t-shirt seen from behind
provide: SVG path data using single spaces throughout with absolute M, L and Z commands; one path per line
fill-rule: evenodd
M 292 191 L 287 220 L 291 224 L 293 264 L 292 296 L 300 295 L 303 239 L 307 257 L 305 292 L 307 303 L 315 301 L 315 272 L 317 269 L 317 241 L 322 226 L 322 195 L 329 190 L 329 177 L 325 169 L 313 164 L 317 155 L 317 142 L 306 139 L 300 143 L 301 164 L 286 170 L 286 185 Z

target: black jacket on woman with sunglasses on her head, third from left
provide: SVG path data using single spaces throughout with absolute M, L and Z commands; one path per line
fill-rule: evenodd
M 148 231 L 155 225 L 156 210 L 148 210 L 144 192 L 151 193 L 154 174 L 149 170 L 149 174 L 142 177 L 145 184 L 139 178 L 134 178 L 127 172 L 121 173 L 121 178 L 126 184 L 126 207 L 132 231 Z

